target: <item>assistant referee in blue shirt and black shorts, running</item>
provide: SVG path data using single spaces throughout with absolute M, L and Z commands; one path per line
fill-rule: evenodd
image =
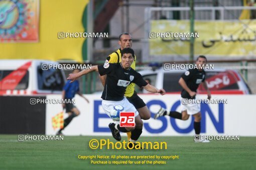
M 77 73 L 79 71 L 79 69 L 74 69 L 73 73 Z M 83 94 L 79 91 L 79 81 L 75 80 L 73 83 L 70 83 L 70 80 L 68 80 L 62 90 L 62 99 L 71 100 L 76 93 L 83 97 L 89 103 L 89 100 L 86 97 L 84 97 Z M 78 116 L 80 114 L 80 111 L 76 108 L 76 106 L 73 103 L 63 103 L 62 107 L 63 109 L 66 109 L 66 112 L 69 116 L 64 120 L 64 126 L 57 132 L 57 135 L 62 135 L 62 130 L 71 122 L 71 120 L 75 116 Z

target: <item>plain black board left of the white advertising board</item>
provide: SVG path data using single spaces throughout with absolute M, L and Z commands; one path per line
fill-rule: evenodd
M 46 104 L 30 104 L 45 96 L 0 96 L 0 134 L 45 134 Z

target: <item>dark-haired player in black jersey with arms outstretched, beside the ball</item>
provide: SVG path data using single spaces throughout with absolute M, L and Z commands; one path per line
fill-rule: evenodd
M 102 92 L 102 107 L 105 113 L 110 116 L 110 111 L 113 109 L 113 106 L 116 104 L 120 104 L 124 107 L 124 110 L 127 112 L 135 112 L 135 127 L 120 127 L 119 123 L 109 123 L 109 128 L 112 132 L 113 137 L 116 140 L 121 140 L 121 136 L 119 131 L 128 132 L 135 131 L 134 135 L 131 136 L 129 142 L 130 148 L 132 148 L 132 144 L 136 143 L 139 139 L 142 128 L 143 121 L 141 116 L 139 115 L 135 106 L 130 103 L 126 97 L 124 97 L 124 93 L 126 87 L 131 83 L 136 83 L 140 87 L 144 87 L 146 90 L 150 92 L 160 93 L 162 95 L 165 94 L 164 89 L 158 89 L 153 85 L 148 84 L 140 73 L 131 68 L 132 63 L 134 62 L 134 50 L 132 48 L 123 48 L 121 51 L 121 62 L 119 63 L 108 63 L 105 62 L 104 65 L 95 65 L 92 66 L 91 69 L 82 70 L 78 73 L 69 74 L 67 79 L 73 82 L 78 77 L 88 74 L 92 71 L 98 71 L 100 75 L 107 75 L 106 81 L 104 85 L 104 90 Z M 134 142 L 134 143 L 132 143 Z

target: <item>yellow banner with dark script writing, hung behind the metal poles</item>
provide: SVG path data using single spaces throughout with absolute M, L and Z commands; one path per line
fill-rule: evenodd
M 256 55 L 256 20 L 195 21 L 195 33 L 189 30 L 189 20 L 152 20 L 150 54 L 188 55 L 193 36 L 195 55 Z

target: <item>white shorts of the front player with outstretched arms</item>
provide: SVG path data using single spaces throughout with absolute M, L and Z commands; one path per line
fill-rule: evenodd
M 134 112 L 135 117 L 139 115 L 139 112 L 135 108 L 135 106 L 124 97 L 121 101 L 111 101 L 111 100 L 102 100 L 102 107 L 105 113 L 111 118 L 110 111 L 113 109 L 113 106 L 116 104 L 120 104 L 123 106 L 126 112 Z M 119 121 L 115 121 L 119 124 Z

